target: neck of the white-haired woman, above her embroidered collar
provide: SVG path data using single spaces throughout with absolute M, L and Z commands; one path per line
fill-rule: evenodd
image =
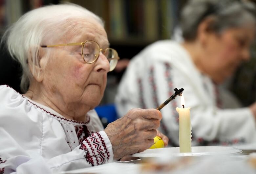
M 86 121 L 86 113 L 92 109 L 79 103 L 66 103 L 58 93 L 49 92 L 39 84 L 31 83 L 29 90 L 23 95 L 53 109 L 66 119 Z

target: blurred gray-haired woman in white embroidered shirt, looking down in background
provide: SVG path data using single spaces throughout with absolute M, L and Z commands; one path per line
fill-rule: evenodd
M 181 12 L 184 41 L 158 41 L 130 62 L 116 97 L 119 115 L 134 107 L 156 108 L 175 87 L 183 87 L 185 107 L 191 107 L 193 145 L 256 142 L 256 103 L 234 109 L 234 97 L 217 87 L 249 59 L 255 12 L 248 2 L 189 1 Z M 161 110 L 160 127 L 172 146 L 179 146 L 175 108 L 182 107 L 180 100 Z

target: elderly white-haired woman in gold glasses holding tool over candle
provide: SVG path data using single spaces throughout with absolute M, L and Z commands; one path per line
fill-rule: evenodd
M 96 166 L 154 143 L 156 109 L 133 109 L 103 131 L 94 107 L 119 58 L 98 16 L 75 5 L 46 6 L 23 15 L 4 38 L 22 66 L 24 94 L 0 86 L 1 174 Z

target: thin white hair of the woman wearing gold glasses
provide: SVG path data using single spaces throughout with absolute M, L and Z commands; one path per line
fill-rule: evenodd
M 81 19 L 94 19 L 104 27 L 103 21 L 91 11 L 74 4 L 61 4 L 29 11 L 6 30 L 1 43 L 6 43 L 11 57 L 22 67 L 20 84 L 22 92 L 28 90 L 35 66 L 39 66 L 40 45 L 44 41 L 51 42 L 60 38 L 67 39 L 67 36 L 78 36 L 79 33 L 76 31 L 79 26 L 72 24 Z M 46 52 L 46 56 L 49 58 L 50 51 Z M 28 66 L 28 58 L 32 62 L 32 72 Z

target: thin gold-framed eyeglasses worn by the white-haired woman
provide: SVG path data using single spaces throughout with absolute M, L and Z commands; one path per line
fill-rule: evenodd
M 113 71 L 117 65 L 117 61 L 120 59 L 118 57 L 117 51 L 113 48 L 106 48 L 103 50 L 99 47 L 99 44 L 93 40 L 86 40 L 85 42 L 78 43 L 67 43 L 67 44 L 58 44 L 58 45 L 41 45 L 42 48 L 46 47 L 56 47 L 56 46 L 74 46 L 82 45 L 81 55 L 86 63 L 92 64 L 96 62 L 101 52 L 105 55 L 109 61 L 110 71 Z

